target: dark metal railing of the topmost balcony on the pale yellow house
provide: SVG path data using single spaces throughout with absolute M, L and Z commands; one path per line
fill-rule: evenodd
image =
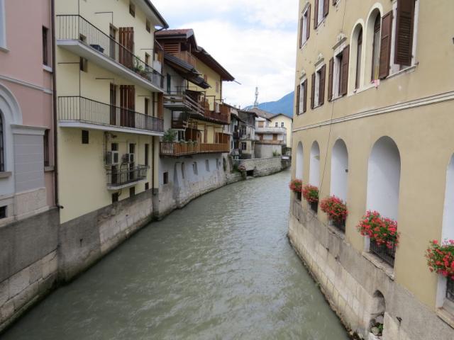
M 162 89 L 164 77 L 92 23 L 77 14 L 57 16 L 57 40 L 78 40 Z

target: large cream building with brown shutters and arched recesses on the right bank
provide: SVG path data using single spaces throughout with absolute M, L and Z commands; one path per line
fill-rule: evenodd
M 453 283 L 428 270 L 454 239 L 454 1 L 299 1 L 292 176 L 346 201 L 345 232 L 294 197 L 289 237 L 343 322 L 367 339 L 454 339 Z M 383 256 L 356 226 L 398 222 Z M 369 339 L 375 339 L 372 336 Z

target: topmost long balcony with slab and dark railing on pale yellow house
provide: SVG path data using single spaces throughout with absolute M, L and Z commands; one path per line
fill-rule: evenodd
M 164 77 L 145 64 L 125 46 L 106 35 L 82 16 L 57 16 L 57 45 L 75 55 L 84 57 L 104 69 L 142 86 L 162 92 Z

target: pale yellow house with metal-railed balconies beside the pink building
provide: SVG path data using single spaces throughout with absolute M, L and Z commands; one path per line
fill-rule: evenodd
M 148 0 L 55 0 L 60 228 L 80 240 L 61 245 L 77 247 L 66 277 L 150 220 L 167 27 Z

